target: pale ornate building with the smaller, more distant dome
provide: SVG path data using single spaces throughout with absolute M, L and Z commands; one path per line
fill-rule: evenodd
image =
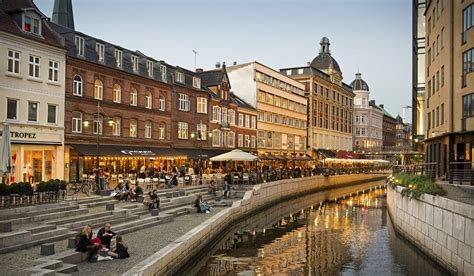
M 357 73 L 351 87 L 354 91 L 354 149 L 380 151 L 383 146 L 383 110 L 370 100 L 369 85 Z

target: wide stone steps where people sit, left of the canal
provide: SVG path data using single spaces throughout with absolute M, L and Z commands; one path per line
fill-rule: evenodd
M 159 212 L 150 211 L 139 202 L 119 203 L 111 197 L 99 196 L 74 202 L 2 210 L 0 225 L 10 224 L 12 229 L 10 232 L 0 233 L 0 254 L 61 240 L 69 240 L 68 246 L 72 248 L 73 238 L 86 224 L 90 224 L 96 231 L 108 222 L 115 232 L 122 235 L 170 222 L 173 217 L 196 212 L 192 204 L 197 194 L 202 194 L 203 200 L 214 206 L 231 204 L 231 201 L 220 200 L 221 193 L 217 196 L 209 195 L 206 186 L 194 186 L 159 192 Z M 237 192 L 233 197 L 242 195 L 243 192 Z M 83 260 L 84 254 L 67 249 L 38 259 L 39 264 L 27 269 L 27 273 L 69 274 L 77 271 L 76 264 Z

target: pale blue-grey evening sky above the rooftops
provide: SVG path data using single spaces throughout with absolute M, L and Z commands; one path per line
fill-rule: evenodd
M 52 16 L 54 0 L 34 0 Z M 395 117 L 411 105 L 410 0 L 73 0 L 77 31 L 194 69 L 306 65 L 323 36 L 343 81 L 360 71 Z M 407 121 L 411 111 L 406 112 Z

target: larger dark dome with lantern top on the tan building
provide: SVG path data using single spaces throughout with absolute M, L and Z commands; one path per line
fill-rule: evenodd
M 319 42 L 320 49 L 319 55 L 316 56 L 313 61 L 311 62 L 311 67 L 319 69 L 324 73 L 328 74 L 333 78 L 333 80 L 337 82 L 342 81 L 342 72 L 341 68 L 337 61 L 331 56 L 331 50 L 329 46 L 331 43 L 329 42 L 329 38 L 323 37 Z

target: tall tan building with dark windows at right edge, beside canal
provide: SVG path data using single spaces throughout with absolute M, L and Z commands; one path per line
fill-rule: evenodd
M 474 1 L 428 1 L 426 161 L 436 176 L 471 170 L 474 145 Z

